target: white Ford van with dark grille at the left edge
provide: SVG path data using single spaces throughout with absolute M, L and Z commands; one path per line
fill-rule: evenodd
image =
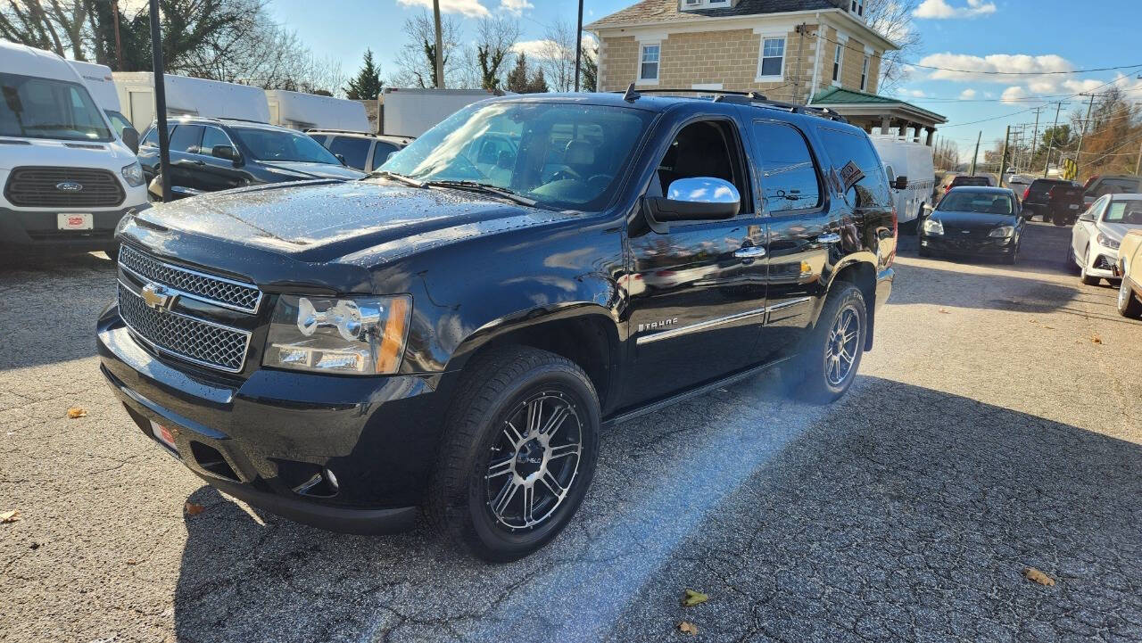
M 116 135 L 59 56 L 0 41 L 0 246 L 107 250 L 119 219 L 146 207 L 138 131 Z

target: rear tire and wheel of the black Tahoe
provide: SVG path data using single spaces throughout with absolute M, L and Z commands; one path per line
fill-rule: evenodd
M 825 300 L 821 316 L 799 357 L 799 370 L 804 378 L 796 393 L 811 402 L 828 403 L 844 395 L 856 377 L 861 355 L 864 353 L 864 335 L 868 329 L 864 297 L 853 283 L 842 282 L 837 286 L 841 288 L 830 292 Z M 847 370 L 843 370 L 843 357 L 834 360 L 837 354 L 835 341 L 839 340 L 835 337 L 835 331 L 841 324 L 852 324 L 854 321 L 858 324 L 855 337 L 844 341 L 846 353 L 852 351 L 852 360 L 847 363 Z M 837 368 L 842 370 L 835 372 Z

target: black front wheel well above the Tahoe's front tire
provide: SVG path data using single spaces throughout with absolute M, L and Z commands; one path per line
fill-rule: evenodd
M 600 408 L 605 410 L 610 395 L 612 356 L 618 349 L 613 327 L 614 322 L 611 320 L 594 314 L 553 320 L 504 332 L 481 346 L 472 357 L 510 345 L 549 351 L 571 360 L 587 373 L 598 395 Z

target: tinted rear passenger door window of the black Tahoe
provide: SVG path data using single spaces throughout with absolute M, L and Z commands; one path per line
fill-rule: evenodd
M 821 204 L 821 183 L 809 144 L 794 127 L 754 122 L 762 193 L 769 211 L 804 210 Z

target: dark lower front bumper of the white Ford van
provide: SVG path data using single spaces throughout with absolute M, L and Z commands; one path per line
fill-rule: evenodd
M 0 247 L 13 250 L 51 251 L 103 250 L 114 243 L 115 226 L 130 210 L 146 208 L 146 203 L 116 210 L 15 210 L 0 207 Z M 59 230 L 58 215 L 90 212 L 91 230 Z

